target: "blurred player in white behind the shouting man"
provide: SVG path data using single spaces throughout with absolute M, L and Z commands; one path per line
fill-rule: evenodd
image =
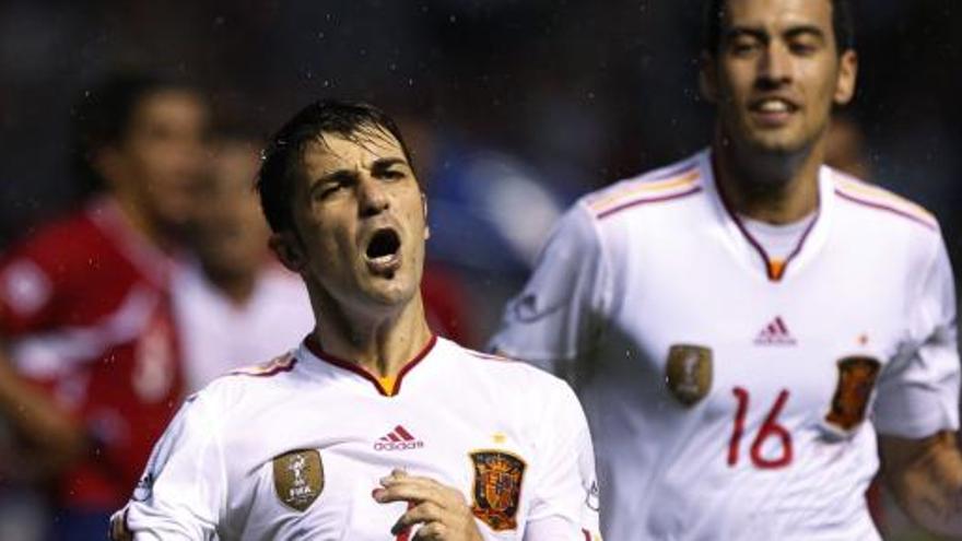
M 268 248 L 254 190 L 261 146 L 242 127 L 219 129 L 198 183 L 188 239 L 196 258 L 175 273 L 172 292 L 189 392 L 270 358 L 314 327 L 304 283 Z

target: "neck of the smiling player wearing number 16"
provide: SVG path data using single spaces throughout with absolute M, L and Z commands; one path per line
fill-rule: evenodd
M 740 148 L 718 130 L 713 154 L 718 186 L 739 214 L 781 225 L 818 209 L 821 140 L 795 153 L 763 154 Z

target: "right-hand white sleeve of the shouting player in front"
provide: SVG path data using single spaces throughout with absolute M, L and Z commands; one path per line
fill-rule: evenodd
M 600 540 L 595 450 L 582 405 L 572 389 L 561 391 L 542 424 L 544 455 L 528 513 L 525 541 Z

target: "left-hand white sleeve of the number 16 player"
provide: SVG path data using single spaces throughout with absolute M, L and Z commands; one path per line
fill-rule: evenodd
M 609 303 L 609 263 L 583 204 L 555 225 L 521 293 L 504 310 L 489 348 L 554 373 L 589 351 Z

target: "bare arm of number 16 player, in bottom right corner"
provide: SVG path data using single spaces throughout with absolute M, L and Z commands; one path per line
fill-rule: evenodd
M 903 510 L 932 532 L 962 539 L 962 452 L 955 435 L 879 438 L 882 473 Z

